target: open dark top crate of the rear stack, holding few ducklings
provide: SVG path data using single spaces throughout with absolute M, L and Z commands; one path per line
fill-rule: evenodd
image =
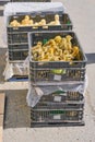
M 13 20 L 17 20 L 19 22 L 21 22 L 25 15 L 29 15 L 29 17 L 32 17 L 32 20 L 34 22 L 39 22 L 41 19 L 45 19 L 47 23 L 51 22 L 55 20 L 55 15 L 59 14 L 59 20 L 60 20 L 60 24 L 61 25 L 48 25 L 46 27 L 45 26 L 35 26 L 36 28 L 34 28 L 34 26 L 19 26 L 19 27 L 13 27 L 10 26 L 9 23 L 12 22 Z M 10 15 L 8 16 L 8 25 L 7 25 L 7 29 L 8 33 L 9 32 L 32 32 L 32 31 L 57 31 L 57 29 L 72 29 L 73 24 L 72 21 L 69 16 L 69 14 L 67 13 L 57 13 L 57 12 L 35 12 L 35 13 L 24 13 L 24 14 L 19 14 L 19 15 Z

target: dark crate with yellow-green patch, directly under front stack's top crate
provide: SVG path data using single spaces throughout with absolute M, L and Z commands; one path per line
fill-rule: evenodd
M 48 82 L 84 81 L 85 68 L 63 68 L 63 69 L 33 69 L 29 64 L 29 78 L 33 83 L 47 84 Z

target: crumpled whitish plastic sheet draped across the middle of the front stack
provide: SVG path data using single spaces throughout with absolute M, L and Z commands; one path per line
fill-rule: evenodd
M 34 107 L 41 98 L 43 95 L 50 95 L 52 93 L 56 93 L 57 91 L 63 91 L 64 94 L 67 94 L 68 91 L 70 92 L 79 92 L 81 94 L 85 94 L 86 88 L 87 88 L 87 78 L 85 78 L 84 83 L 79 83 L 79 84 L 63 84 L 63 85 L 55 85 L 55 86 L 32 86 L 29 84 L 26 102 L 27 105 L 31 107 Z

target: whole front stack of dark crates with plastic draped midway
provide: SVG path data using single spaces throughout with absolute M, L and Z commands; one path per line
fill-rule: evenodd
M 50 31 L 33 32 L 28 36 L 29 95 L 32 95 L 31 97 L 28 95 L 28 99 L 32 99 L 29 106 L 33 106 L 32 127 L 84 125 L 86 57 L 76 34 L 69 31 L 71 27 L 68 21 L 59 26 L 48 26 Z M 32 47 L 38 42 L 44 44 L 56 36 L 66 38 L 68 35 L 72 37 L 72 45 L 80 48 L 82 60 L 34 61 Z

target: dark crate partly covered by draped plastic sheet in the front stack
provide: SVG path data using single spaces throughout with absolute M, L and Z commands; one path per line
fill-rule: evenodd
M 32 88 L 32 90 L 34 90 L 34 88 Z M 43 90 L 43 92 L 44 92 L 44 90 Z M 67 91 L 67 92 L 56 91 L 55 93 L 51 93 L 49 95 L 44 94 L 40 97 L 39 102 L 34 106 L 34 109 L 45 109 L 45 108 L 46 109 L 84 108 L 84 96 L 83 96 L 83 94 L 75 92 L 75 91 Z

